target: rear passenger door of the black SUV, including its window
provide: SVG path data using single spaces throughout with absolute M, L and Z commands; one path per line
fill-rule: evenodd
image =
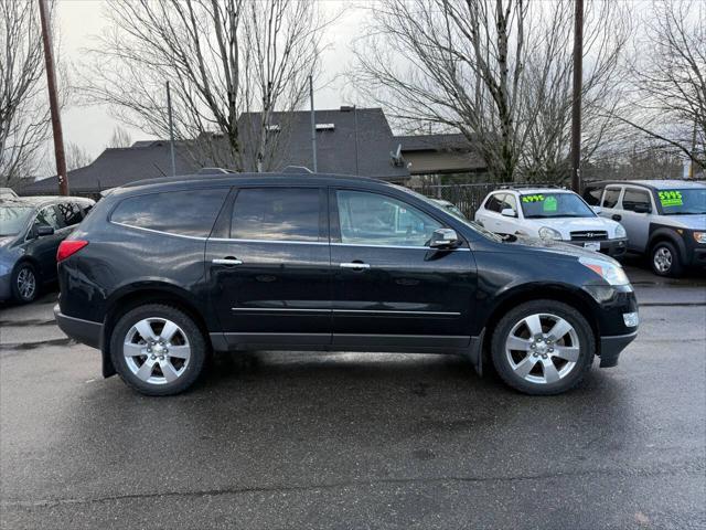
M 206 242 L 211 304 L 229 346 L 329 344 L 325 189 L 243 187 L 232 195 L 218 236 Z

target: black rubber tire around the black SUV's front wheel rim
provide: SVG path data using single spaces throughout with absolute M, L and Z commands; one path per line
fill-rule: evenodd
M 513 328 L 515 328 L 515 326 L 524 318 L 537 314 L 560 317 L 574 328 L 578 338 L 579 353 L 576 364 L 571 369 L 567 368 L 568 372 L 556 382 L 532 382 L 523 379 L 513 370 L 505 351 L 505 341 Z M 544 325 L 545 322 L 543 321 L 542 324 Z M 511 353 L 513 356 L 516 354 L 514 351 Z M 534 356 L 534 353 L 532 354 Z M 596 339 L 586 318 L 571 306 L 556 300 L 534 300 L 515 307 L 498 322 L 491 342 L 493 367 L 500 378 L 513 389 L 531 395 L 560 394 L 561 392 L 566 392 L 575 388 L 584 379 L 588 370 L 590 370 L 595 354 Z M 520 356 L 522 356 L 522 353 L 520 353 Z M 531 353 L 527 352 L 526 356 L 528 358 Z M 538 358 L 535 362 L 537 361 L 542 361 L 542 358 Z M 556 364 L 566 361 L 561 359 L 553 359 L 550 362 Z M 541 370 L 542 373 L 544 372 L 543 367 L 538 367 L 537 369 L 533 368 L 533 370 Z M 532 375 L 532 373 L 528 375 Z

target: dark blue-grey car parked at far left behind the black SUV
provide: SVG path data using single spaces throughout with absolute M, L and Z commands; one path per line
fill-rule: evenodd
M 26 304 L 56 279 L 58 244 L 93 204 L 77 197 L 0 199 L 0 300 Z

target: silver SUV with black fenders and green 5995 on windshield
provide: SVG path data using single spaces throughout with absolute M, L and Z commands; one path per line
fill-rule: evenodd
M 587 202 L 625 227 L 628 250 L 650 257 L 660 276 L 706 266 L 706 183 L 683 180 L 603 181 L 587 186 Z

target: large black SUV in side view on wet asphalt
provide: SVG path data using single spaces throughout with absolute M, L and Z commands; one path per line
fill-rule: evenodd
M 116 189 L 58 251 L 60 327 L 103 373 L 165 395 L 211 352 L 435 352 L 531 394 L 618 362 L 638 305 L 610 257 L 501 239 L 407 189 L 324 174 Z

